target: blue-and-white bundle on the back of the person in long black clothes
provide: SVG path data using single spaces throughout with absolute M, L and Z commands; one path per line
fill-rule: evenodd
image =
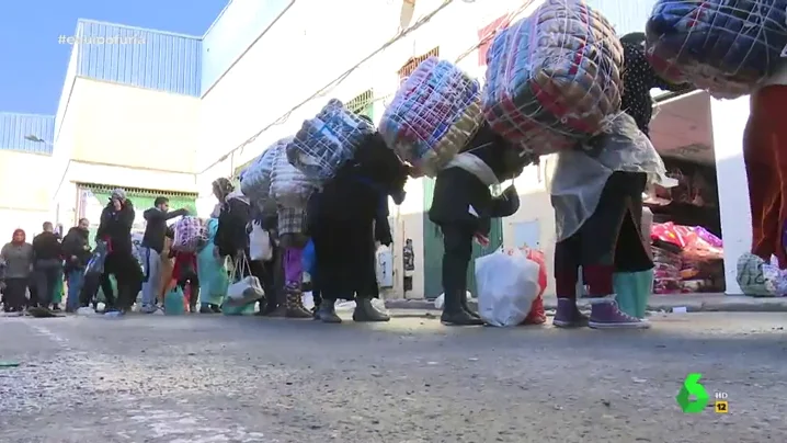
M 305 174 L 328 180 L 353 158 L 364 138 L 374 133 L 372 123 L 331 99 L 315 118 L 304 122 L 287 146 L 287 158 Z

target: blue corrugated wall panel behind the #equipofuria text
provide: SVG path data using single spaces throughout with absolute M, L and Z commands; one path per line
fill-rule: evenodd
M 201 37 L 90 20 L 79 21 L 76 35 L 77 76 L 199 96 Z

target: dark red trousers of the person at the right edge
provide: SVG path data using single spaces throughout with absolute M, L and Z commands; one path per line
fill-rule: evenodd
M 766 87 L 752 94 L 743 133 L 743 161 L 752 209 L 752 253 L 766 262 L 776 255 L 787 269 L 782 232 L 787 219 L 787 86 Z

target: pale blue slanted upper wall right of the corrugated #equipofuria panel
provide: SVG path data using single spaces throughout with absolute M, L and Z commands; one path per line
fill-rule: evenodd
M 203 39 L 203 95 L 294 2 L 231 0 L 227 4 Z

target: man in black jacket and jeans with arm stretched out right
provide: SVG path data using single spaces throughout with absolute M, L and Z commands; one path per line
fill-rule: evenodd
M 170 200 L 156 197 L 153 207 L 145 212 L 145 236 L 142 237 L 141 254 L 145 261 L 145 276 L 142 283 L 141 311 L 151 314 L 156 311 L 156 294 L 161 280 L 161 252 L 164 250 L 167 236 L 167 220 L 189 215 L 187 209 L 170 212 Z

